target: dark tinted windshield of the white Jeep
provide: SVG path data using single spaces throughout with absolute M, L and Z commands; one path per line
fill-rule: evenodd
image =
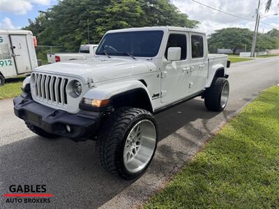
M 158 54 L 162 38 L 163 31 L 107 33 L 96 54 L 152 57 Z

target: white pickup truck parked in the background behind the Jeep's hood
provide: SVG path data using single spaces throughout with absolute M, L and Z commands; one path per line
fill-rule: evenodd
M 80 45 L 78 53 L 47 53 L 47 63 L 57 63 L 74 59 L 92 58 L 98 45 Z

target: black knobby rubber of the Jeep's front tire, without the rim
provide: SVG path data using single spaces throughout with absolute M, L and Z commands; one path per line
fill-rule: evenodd
M 156 146 L 146 167 L 137 173 L 130 173 L 123 162 L 123 149 L 126 138 L 133 126 L 145 119 L 151 121 L 156 128 Z M 133 179 L 141 176 L 149 167 L 156 151 L 157 142 L 158 128 L 156 119 L 149 111 L 139 108 L 121 107 L 103 121 L 96 140 L 96 153 L 100 158 L 102 166 L 108 172 L 124 179 Z

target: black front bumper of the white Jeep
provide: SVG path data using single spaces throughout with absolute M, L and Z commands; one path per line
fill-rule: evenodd
M 45 132 L 73 138 L 75 141 L 85 141 L 92 137 L 100 125 L 100 112 L 80 111 L 77 114 L 69 114 L 67 111 L 38 104 L 30 96 L 25 98 L 22 95 L 14 98 L 13 103 L 17 117 L 40 127 Z M 66 125 L 70 125 L 70 132 Z

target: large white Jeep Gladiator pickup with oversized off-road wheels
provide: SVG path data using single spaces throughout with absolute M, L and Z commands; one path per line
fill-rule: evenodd
M 137 178 L 156 151 L 153 115 L 197 96 L 210 111 L 223 111 L 229 63 L 208 54 L 206 34 L 193 29 L 108 31 L 93 59 L 36 68 L 13 100 L 15 115 L 43 137 L 96 140 L 107 171 Z

